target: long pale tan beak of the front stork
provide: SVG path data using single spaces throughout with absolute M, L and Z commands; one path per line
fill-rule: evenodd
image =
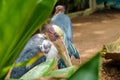
M 65 61 L 65 64 L 67 66 L 72 66 L 72 62 L 71 59 L 69 57 L 67 48 L 65 46 L 63 37 L 60 37 L 59 39 L 57 39 L 56 41 L 53 42 L 54 45 L 57 47 L 58 52 L 60 54 L 60 56 L 62 57 L 62 59 Z

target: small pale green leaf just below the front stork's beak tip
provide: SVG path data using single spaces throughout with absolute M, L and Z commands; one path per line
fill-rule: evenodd
M 71 66 L 64 69 L 59 69 L 56 71 L 52 71 L 47 75 L 47 77 L 52 78 L 69 78 L 76 71 L 76 66 Z

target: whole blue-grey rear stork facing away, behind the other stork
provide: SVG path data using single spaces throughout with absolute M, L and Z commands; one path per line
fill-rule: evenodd
M 62 5 L 56 6 L 55 14 L 51 19 L 51 23 L 59 26 L 64 33 L 64 42 L 70 57 L 73 55 L 76 59 L 80 59 L 80 55 L 73 45 L 73 30 L 70 18 L 64 14 L 65 8 Z

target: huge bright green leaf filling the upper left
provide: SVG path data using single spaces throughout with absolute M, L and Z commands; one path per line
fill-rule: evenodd
M 56 0 L 0 0 L 0 77 L 30 36 L 49 17 Z

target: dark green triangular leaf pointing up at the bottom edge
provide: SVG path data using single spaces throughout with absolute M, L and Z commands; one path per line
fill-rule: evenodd
M 68 80 L 99 80 L 100 53 L 95 55 L 80 68 Z

